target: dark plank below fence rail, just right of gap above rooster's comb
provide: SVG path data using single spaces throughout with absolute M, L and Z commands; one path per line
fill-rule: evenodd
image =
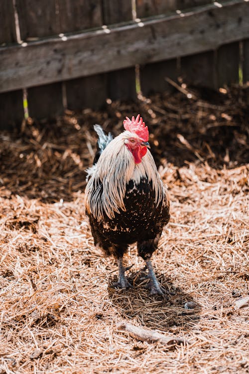
M 176 58 L 168 61 L 154 62 L 145 66 L 140 65 L 141 91 L 144 95 L 172 91 L 173 87 L 169 85 L 165 78 L 176 81 L 177 76 Z

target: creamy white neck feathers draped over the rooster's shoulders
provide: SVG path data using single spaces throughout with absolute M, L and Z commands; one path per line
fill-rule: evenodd
M 146 176 L 152 182 L 157 205 L 164 200 L 166 187 L 159 177 L 151 153 L 147 151 L 142 162 L 135 164 L 131 152 L 124 145 L 124 140 L 130 136 L 130 132 L 124 131 L 108 144 L 87 184 L 86 209 L 98 221 L 103 218 L 104 213 L 112 219 L 115 212 L 125 211 L 124 196 L 130 180 L 139 184 L 141 178 Z M 103 185 L 102 193 L 99 183 Z

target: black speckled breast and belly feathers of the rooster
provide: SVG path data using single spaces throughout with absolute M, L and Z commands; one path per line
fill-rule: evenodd
M 124 205 L 126 211 L 115 213 L 113 219 L 104 215 L 98 222 L 92 215 L 89 217 L 95 245 L 100 244 L 107 255 L 122 257 L 128 245 L 137 242 L 139 256 L 149 258 L 169 221 L 169 205 L 161 201 L 156 206 L 152 183 L 146 177 L 137 185 L 129 181 Z

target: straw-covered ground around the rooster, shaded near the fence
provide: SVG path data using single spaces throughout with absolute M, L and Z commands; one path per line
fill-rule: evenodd
M 111 103 L 0 133 L 0 373 L 249 373 L 248 89 Z M 93 124 L 115 135 L 140 113 L 171 195 L 152 262 L 168 300 L 148 295 L 144 263 L 93 245 L 84 212 Z M 146 207 L 145 207 L 146 209 Z M 195 309 L 185 309 L 193 302 Z M 120 322 L 186 338 L 140 342 Z

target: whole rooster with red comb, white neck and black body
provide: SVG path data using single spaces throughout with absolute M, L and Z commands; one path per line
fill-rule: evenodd
M 169 197 L 149 151 L 149 133 L 142 118 L 124 120 L 125 131 L 112 138 L 99 125 L 94 165 L 88 169 L 85 192 L 94 244 L 118 261 L 118 282 L 113 286 L 131 287 L 125 277 L 123 256 L 128 245 L 137 242 L 150 278 L 150 294 L 165 295 L 151 264 L 163 227 L 168 223 Z

